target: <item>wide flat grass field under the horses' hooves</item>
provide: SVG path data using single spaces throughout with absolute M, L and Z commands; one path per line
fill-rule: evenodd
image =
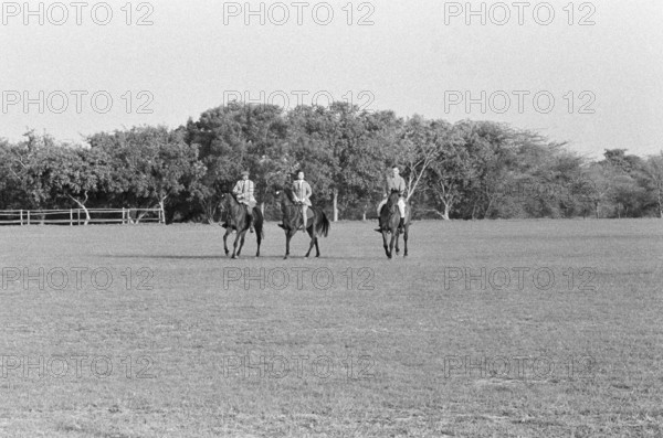
M 663 435 L 663 221 L 373 226 L 1 227 L 0 436 Z

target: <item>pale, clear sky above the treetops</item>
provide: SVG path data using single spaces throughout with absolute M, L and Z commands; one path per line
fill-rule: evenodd
M 28 4 L 28 7 L 25 7 Z M 663 149 L 663 1 L 0 3 L 0 137 L 176 128 L 238 96 Z

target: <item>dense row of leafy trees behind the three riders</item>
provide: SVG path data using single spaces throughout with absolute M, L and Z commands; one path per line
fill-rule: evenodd
M 88 136 L 85 146 L 30 130 L 0 140 L 0 210 L 158 206 L 167 222 L 215 222 L 220 195 L 251 171 L 265 216 L 297 171 L 334 220 L 376 217 L 398 164 L 419 218 L 663 217 L 663 151 L 566 143 L 494 121 L 455 124 L 393 111 L 231 103 L 177 129 L 141 126 Z

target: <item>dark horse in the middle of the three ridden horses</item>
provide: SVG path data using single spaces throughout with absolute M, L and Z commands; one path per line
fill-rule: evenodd
M 301 226 L 304 225 L 304 218 L 302 217 L 302 205 L 294 201 L 294 193 L 291 188 L 277 190 L 276 195 L 281 199 L 281 212 L 283 213 L 283 224 L 278 224 L 285 231 L 285 257 L 290 256 L 290 241 L 297 233 Z M 318 235 L 327 237 L 329 233 L 329 220 L 325 215 L 325 212 L 308 207 L 309 212 L 313 212 L 313 217 L 306 221 L 306 231 L 311 236 L 311 245 L 306 257 L 311 255 L 311 250 L 315 245 L 316 257 L 320 256 L 320 248 L 318 247 Z

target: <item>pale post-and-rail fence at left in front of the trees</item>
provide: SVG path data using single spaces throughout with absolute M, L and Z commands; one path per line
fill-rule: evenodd
M 0 225 L 166 223 L 161 209 L 0 210 Z

